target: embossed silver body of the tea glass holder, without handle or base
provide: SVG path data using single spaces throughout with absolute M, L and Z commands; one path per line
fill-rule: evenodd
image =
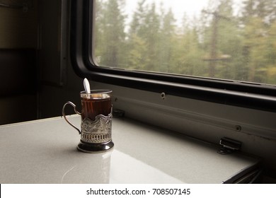
M 96 120 L 85 118 L 81 122 L 81 140 L 88 143 L 111 141 L 112 114 L 97 115 Z

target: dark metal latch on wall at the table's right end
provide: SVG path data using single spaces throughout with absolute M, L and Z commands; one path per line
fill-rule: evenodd
M 241 141 L 236 141 L 235 139 L 229 139 L 227 137 L 220 139 L 219 144 L 223 147 L 220 148 L 217 153 L 222 155 L 230 154 L 241 149 Z

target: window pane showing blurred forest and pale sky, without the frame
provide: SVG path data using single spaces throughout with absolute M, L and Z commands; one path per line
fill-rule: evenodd
M 98 66 L 276 84 L 276 0 L 96 0 Z

